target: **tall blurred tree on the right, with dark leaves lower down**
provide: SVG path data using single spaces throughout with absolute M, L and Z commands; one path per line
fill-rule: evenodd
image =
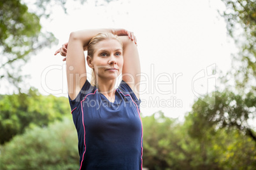
M 223 16 L 227 30 L 240 49 L 236 62 L 227 75 L 234 75 L 235 86 L 229 85 L 232 79 L 222 77 L 225 89 L 220 87 L 213 92 L 212 98 L 195 101 L 190 116 L 194 117 L 191 135 L 202 137 L 204 131 L 214 133 L 214 128 L 238 129 L 256 143 L 256 134 L 248 123 L 256 117 L 256 3 L 255 1 L 222 0 L 227 6 Z M 238 34 L 239 28 L 239 34 Z M 204 101 L 207 101 L 206 103 Z M 213 102 L 214 101 L 214 102 Z

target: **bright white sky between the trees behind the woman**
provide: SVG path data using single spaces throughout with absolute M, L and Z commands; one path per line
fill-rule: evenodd
M 124 28 L 134 32 L 143 75 L 143 115 L 162 110 L 166 116 L 182 120 L 194 100 L 215 90 L 218 72 L 231 67 L 231 53 L 236 49 L 217 12 L 225 9 L 220 0 L 129 0 L 97 7 L 91 0 L 83 6 L 68 2 L 68 15 L 56 7 L 52 20 L 41 22 L 59 39 L 58 46 L 32 56 L 23 69 L 24 74 L 31 75 L 29 84 L 43 95 L 68 96 L 65 62 L 53 53 L 68 41 L 70 32 L 81 29 Z

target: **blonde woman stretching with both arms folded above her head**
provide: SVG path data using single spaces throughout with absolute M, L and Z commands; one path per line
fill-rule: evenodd
M 66 56 L 68 95 L 78 133 L 80 169 L 142 169 L 140 63 L 136 37 L 124 29 L 72 32 L 55 52 Z M 87 64 L 93 70 L 87 80 Z M 115 82 L 122 73 L 117 89 Z

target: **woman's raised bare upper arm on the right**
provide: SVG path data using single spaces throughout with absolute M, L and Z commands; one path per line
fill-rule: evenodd
M 124 65 L 122 69 L 122 79 L 130 86 L 139 100 L 139 84 L 141 81 L 141 65 L 136 37 L 133 33 L 129 36 L 120 36 L 123 42 Z M 134 43 L 135 42 L 135 43 Z

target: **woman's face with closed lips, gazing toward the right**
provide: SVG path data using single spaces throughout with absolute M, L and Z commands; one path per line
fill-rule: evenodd
M 124 64 L 123 50 L 115 39 L 100 41 L 95 46 L 92 67 L 99 79 L 116 79 Z

